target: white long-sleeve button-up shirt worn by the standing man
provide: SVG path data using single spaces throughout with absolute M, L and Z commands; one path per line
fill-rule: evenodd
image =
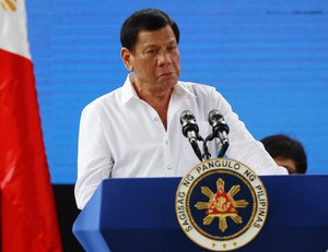
M 78 207 L 83 208 L 107 178 L 183 177 L 200 160 L 181 133 L 180 113 L 190 110 L 200 135 L 207 137 L 212 132 L 208 122 L 212 109 L 218 109 L 230 127 L 229 158 L 245 164 L 257 175 L 288 173 L 254 140 L 213 87 L 178 82 L 169 100 L 165 131 L 157 112 L 138 97 L 129 75 L 122 87 L 97 98 L 82 111 L 75 184 Z M 208 146 L 214 158 L 215 142 Z

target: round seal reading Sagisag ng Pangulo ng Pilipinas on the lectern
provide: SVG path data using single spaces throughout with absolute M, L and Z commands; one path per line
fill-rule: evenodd
M 250 242 L 268 214 L 259 177 L 242 163 L 215 158 L 195 166 L 180 181 L 175 209 L 186 236 L 212 251 L 231 251 Z

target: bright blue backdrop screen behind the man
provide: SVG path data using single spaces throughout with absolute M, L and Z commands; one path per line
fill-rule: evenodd
M 256 139 L 286 133 L 328 173 L 325 0 L 27 0 L 31 52 L 54 183 L 77 178 L 83 107 L 122 85 L 124 20 L 159 8 L 180 28 L 183 81 L 213 85 Z

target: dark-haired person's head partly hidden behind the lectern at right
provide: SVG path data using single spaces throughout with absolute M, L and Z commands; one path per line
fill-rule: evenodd
M 306 153 L 300 141 L 284 134 L 277 134 L 267 136 L 261 142 L 277 165 L 286 168 L 290 175 L 306 172 Z

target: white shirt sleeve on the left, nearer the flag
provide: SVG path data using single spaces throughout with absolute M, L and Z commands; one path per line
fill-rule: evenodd
M 83 109 L 78 145 L 78 180 L 74 188 L 78 208 L 82 209 L 102 180 L 109 178 L 114 165 L 105 141 L 101 112 L 95 106 Z

